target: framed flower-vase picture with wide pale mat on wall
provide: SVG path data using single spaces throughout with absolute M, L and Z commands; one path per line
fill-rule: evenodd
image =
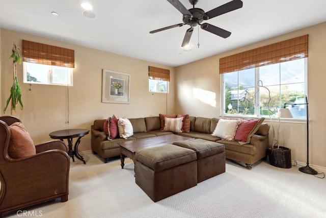
M 130 75 L 103 69 L 102 102 L 130 104 Z

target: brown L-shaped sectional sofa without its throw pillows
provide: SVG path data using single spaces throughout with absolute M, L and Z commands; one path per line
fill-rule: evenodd
M 266 157 L 268 148 L 269 125 L 262 123 L 257 127 L 257 131 L 250 137 L 249 143 L 223 140 L 220 137 L 211 135 L 219 122 L 218 118 L 205 118 L 189 116 L 190 131 L 174 133 L 161 130 L 161 119 L 159 116 L 129 118 L 133 128 L 133 135 L 124 139 L 117 138 L 107 140 L 104 133 L 105 119 L 96 119 L 91 126 L 91 147 L 94 154 L 98 154 L 106 163 L 109 158 L 120 156 L 120 147 L 118 142 L 122 140 L 137 140 L 148 137 L 159 137 L 165 134 L 179 134 L 192 138 L 201 138 L 209 141 L 215 141 L 224 144 L 226 158 L 246 164 L 251 169 L 252 164 Z

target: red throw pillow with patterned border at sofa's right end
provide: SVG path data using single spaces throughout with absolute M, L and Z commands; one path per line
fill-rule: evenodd
M 234 140 L 249 143 L 250 137 L 254 134 L 252 131 L 259 121 L 259 119 L 244 119 L 236 130 Z

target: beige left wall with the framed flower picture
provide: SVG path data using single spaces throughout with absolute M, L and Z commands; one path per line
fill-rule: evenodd
M 175 111 L 175 73 L 172 67 L 6 29 L 0 31 L 2 114 L 13 84 L 12 60 L 9 59 L 13 42 L 20 49 L 24 39 L 75 51 L 73 87 L 69 87 L 69 124 L 67 87 L 37 84 L 30 86 L 23 83 L 22 65 L 17 68 L 24 109 L 21 111 L 17 105 L 13 115 L 22 120 L 36 144 L 50 140 L 48 134 L 52 131 L 66 128 L 90 129 L 94 119 L 104 119 L 113 114 L 137 118 Z M 149 65 L 170 69 L 169 94 L 148 92 Z M 101 103 L 102 69 L 130 74 L 130 104 Z M 10 115 L 10 106 L 4 115 Z M 83 137 L 79 145 L 79 151 L 87 150 L 91 150 L 91 134 Z

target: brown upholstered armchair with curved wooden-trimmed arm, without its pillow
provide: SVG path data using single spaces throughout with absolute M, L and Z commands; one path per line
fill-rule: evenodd
M 38 144 L 35 149 L 32 144 L 35 154 L 13 158 L 9 152 L 16 143 L 12 126 L 18 124 L 22 125 L 16 117 L 0 117 L 0 215 L 56 198 L 68 200 L 67 146 L 59 140 Z

